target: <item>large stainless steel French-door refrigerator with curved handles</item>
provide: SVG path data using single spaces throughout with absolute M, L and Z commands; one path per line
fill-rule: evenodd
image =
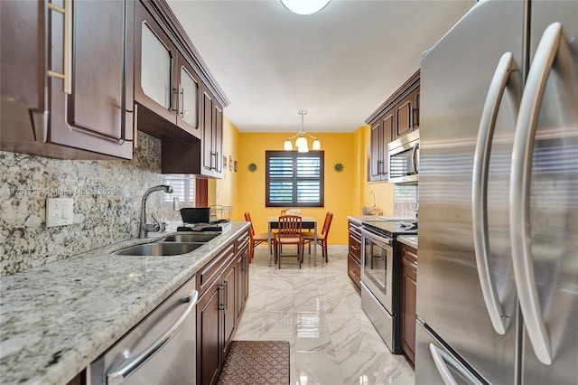
M 415 383 L 578 383 L 578 1 L 482 1 L 421 61 Z

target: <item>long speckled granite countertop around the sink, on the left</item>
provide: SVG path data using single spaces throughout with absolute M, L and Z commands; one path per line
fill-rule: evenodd
M 231 222 L 228 232 L 180 256 L 110 255 L 172 232 L 2 277 L 2 383 L 67 383 L 248 226 Z

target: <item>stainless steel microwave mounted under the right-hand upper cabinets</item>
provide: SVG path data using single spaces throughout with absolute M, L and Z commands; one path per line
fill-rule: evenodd
M 387 145 L 388 183 L 417 184 L 419 174 L 419 130 Z

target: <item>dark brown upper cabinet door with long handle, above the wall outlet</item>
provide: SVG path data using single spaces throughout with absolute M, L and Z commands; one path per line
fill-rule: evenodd
M 58 2 L 54 2 L 58 5 Z M 63 5 L 63 4 L 61 4 Z M 48 141 L 107 155 L 132 158 L 134 3 L 76 1 L 72 17 L 49 12 Z M 64 24 L 72 23 L 64 35 Z M 70 41 L 65 52 L 65 41 Z M 70 93 L 65 93 L 65 85 Z

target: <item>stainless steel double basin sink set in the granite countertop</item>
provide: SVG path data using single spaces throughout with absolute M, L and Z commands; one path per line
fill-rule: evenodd
M 218 234 L 175 234 L 157 240 L 115 251 L 113 254 L 122 256 L 176 256 L 199 249 Z

